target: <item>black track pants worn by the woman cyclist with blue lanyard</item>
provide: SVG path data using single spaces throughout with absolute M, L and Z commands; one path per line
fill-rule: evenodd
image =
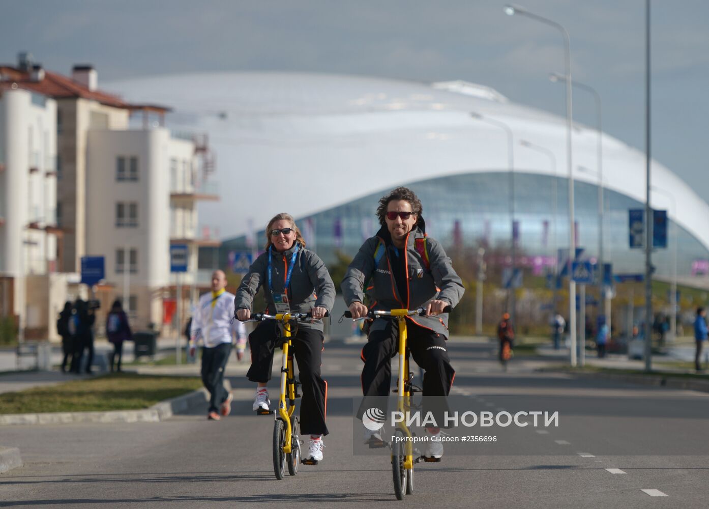
M 271 379 L 274 350 L 280 345 L 280 336 L 281 333 L 274 322 L 261 322 L 254 332 L 249 334 L 251 367 L 246 376 L 250 381 L 265 383 Z M 300 412 L 303 435 L 328 434 L 328 427 L 325 425 L 328 383 L 320 376 L 323 339 L 322 332 L 300 327 L 291 340 L 303 393 Z M 271 403 L 277 405 L 273 397 Z

